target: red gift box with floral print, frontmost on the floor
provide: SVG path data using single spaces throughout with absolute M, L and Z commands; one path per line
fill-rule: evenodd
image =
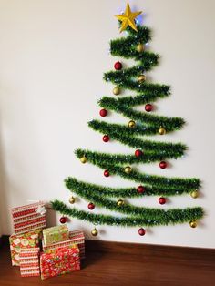
M 79 270 L 80 258 L 78 248 L 60 248 L 53 253 L 42 253 L 40 256 L 42 280 Z

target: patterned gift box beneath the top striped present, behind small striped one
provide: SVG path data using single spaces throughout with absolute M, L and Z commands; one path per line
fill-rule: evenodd
M 42 230 L 34 230 L 24 234 L 12 234 L 9 238 L 11 260 L 13 266 L 19 266 L 19 253 L 22 248 L 34 248 L 39 246 Z

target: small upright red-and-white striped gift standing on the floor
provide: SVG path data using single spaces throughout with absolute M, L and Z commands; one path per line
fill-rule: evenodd
M 22 249 L 19 254 L 22 277 L 40 276 L 39 248 Z

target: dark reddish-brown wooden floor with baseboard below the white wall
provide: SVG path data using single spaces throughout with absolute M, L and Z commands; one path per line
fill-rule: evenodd
M 82 270 L 46 281 L 21 278 L 10 252 L 0 250 L 0 286 L 214 286 L 215 250 L 87 241 Z

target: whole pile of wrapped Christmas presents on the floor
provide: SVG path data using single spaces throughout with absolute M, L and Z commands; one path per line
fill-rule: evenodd
M 67 225 L 46 229 L 43 202 L 12 209 L 15 233 L 10 236 L 11 260 L 22 277 L 41 279 L 80 270 L 85 257 L 82 230 L 68 231 Z

